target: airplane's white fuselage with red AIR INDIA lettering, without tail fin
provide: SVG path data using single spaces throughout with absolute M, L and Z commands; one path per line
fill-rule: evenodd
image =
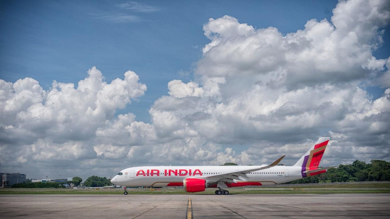
M 262 166 L 137 166 L 122 170 L 111 182 L 124 186 L 179 186 L 185 178 L 203 178 L 207 182 L 208 176 L 257 167 Z M 274 166 L 246 176 L 239 177 L 240 180 L 234 180 L 231 185 L 273 185 L 302 178 L 298 166 Z

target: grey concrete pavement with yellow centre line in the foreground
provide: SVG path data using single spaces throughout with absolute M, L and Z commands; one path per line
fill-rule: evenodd
M 389 218 L 390 194 L 1 195 L 0 218 Z

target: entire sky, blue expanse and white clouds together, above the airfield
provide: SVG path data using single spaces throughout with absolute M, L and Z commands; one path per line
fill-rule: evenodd
M 389 23 L 390 0 L 0 0 L 1 171 L 294 164 L 324 136 L 323 166 L 389 160 Z

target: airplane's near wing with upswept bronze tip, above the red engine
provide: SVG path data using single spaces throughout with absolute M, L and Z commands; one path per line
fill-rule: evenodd
M 250 172 L 265 170 L 265 169 L 271 168 L 273 166 L 276 166 L 284 158 L 284 156 L 285 155 L 283 155 L 282 157 L 279 157 L 279 159 L 277 159 L 276 161 L 274 161 L 273 163 L 271 163 L 269 165 L 262 165 L 262 167 L 260 167 L 260 168 L 236 170 L 236 171 L 232 171 L 229 173 L 215 174 L 215 175 L 207 176 L 204 178 L 207 179 L 210 183 L 217 183 L 218 186 L 226 188 L 227 185 L 225 185 L 225 182 L 234 183 L 233 180 L 242 180 L 239 177 L 248 178 L 246 176 L 246 174 L 248 174 Z

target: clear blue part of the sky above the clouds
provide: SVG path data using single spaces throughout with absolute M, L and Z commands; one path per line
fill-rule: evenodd
M 123 3 L 2 1 L 0 78 L 14 82 L 32 77 L 48 89 L 53 80 L 77 85 L 94 65 L 107 82 L 132 70 L 147 92 L 118 113 L 131 111 L 137 120 L 150 122 L 148 109 L 167 94 L 167 83 L 193 79 L 193 66 L 209 42 L 202 31 L 209 18 L 230 15 L 240 23 L 274 26 L 287 34 L 303 29 L 312 18 L 330 20 L 337 1 L 144 1 L 138 9 L 119 7 Z M 121 16 L 135 20 L 115 20 Z M 375 55 L 387 58 L 388 49 L 385 40 Z M 384 90 L 370 91 L 380 97 Z

